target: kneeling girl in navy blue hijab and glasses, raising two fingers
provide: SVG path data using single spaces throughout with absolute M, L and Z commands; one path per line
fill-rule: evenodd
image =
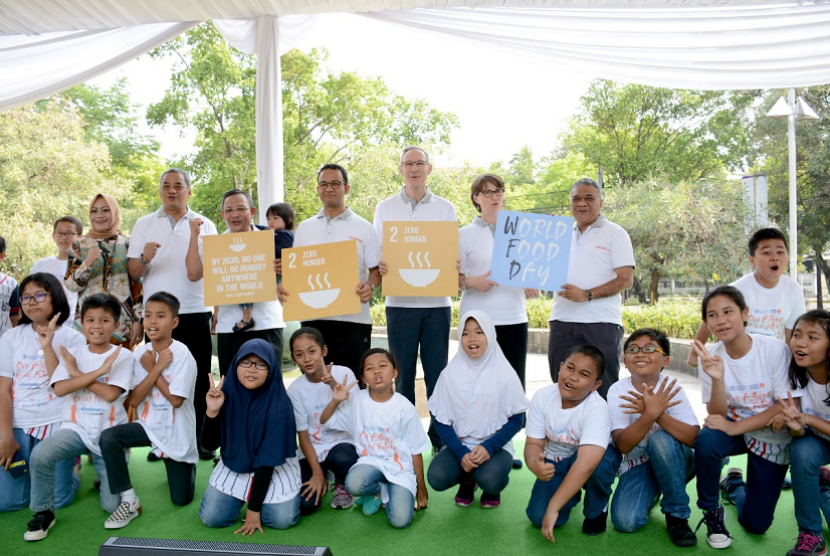
M 213 379 L 211 379 L 212 381 Z M 242 535 L 262 526 L 287 529 L 300 517 L 300 464 L 294 410 L 273 346 L 242 344 L 228 374 L 207 394 L 202 446 L 221 447 L 199 517 L 229 527 L 247 502 Z

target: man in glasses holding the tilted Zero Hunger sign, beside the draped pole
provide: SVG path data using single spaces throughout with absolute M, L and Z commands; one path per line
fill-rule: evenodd
M 363 353 L 371 347 L 372 315 L 369 301 L 380 285 L 380 239 L 372 225 L 346 206 L 351 186 L 346 169 L 326 164 L 317 172 L 317 194 L 323 202 L 320 211 L 297 227 L 294 247 L 355 241 L 357 243 L 358 284 L 355 295 L 360 298 L 360 312 L 317 320 L 303 321 L 313 326 L 326 340 L 326 363 L 343 365 L 360 376 L 358 367 Z

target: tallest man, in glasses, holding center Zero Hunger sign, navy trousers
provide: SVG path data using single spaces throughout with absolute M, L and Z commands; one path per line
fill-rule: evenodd
M 375 208 L 375 231 L 383 242 L 385 221 L 455 222 L 455 207 L 427 187 L 427 178 L 432 173 L 429 154 L 420 147 L 406 147 L 401 153 L 398 171 L 404 178 L 401 192 L 382 201 Z M 380 273 L 386 272 L 381 261 Z M 420 346 L 421 365 L 424 368 L 424 382 L 427 397 L 438 382 L 438 376 L 447 366 L 450 347 L 449 297 L 397 297 L 386 298 L 386 326 L 389 335 L 389 349 L 400 365 L 397 391 L 415 403 L 415 369 Z M 433 451 L 443 443 L 435 427 L 429 428 L 429 439 Z

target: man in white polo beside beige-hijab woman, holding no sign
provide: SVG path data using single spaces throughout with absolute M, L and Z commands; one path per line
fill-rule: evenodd
M 144 282 L 144 299 L 158 291 L 171 293 L 181 303 L 179 325 L 173 329 L 173 339 L 187 346 L 196 360 L 199 378 L 193 405 L 196 409 L 196 438 L 202 430 L 202 421 L 207 409 L 205 397 L 208 391 L 207 376 L 210 374 L 210 309 L 205 307 L 202 281 L 188 279 L 185 256 L 190 247 L 190 222 L 202 222 L 199 235 L 195 238 L 199 251 L 202 238 L 215 234 L 216 226 L 201 214 L 187 206 L 192 190 L 190 176 L 184 170 L 170 168 L 159 180 L 161 208 L 141 217 L 133 227 L 130 238 L 130 275 Z M 199 444 L 199 457 L 212 459 L 214 453 L 203 450 Z

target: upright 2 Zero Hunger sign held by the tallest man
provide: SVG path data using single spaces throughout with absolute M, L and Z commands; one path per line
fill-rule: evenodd
M 384 222 L 383 294 L 458 295 L 458 222 Z

